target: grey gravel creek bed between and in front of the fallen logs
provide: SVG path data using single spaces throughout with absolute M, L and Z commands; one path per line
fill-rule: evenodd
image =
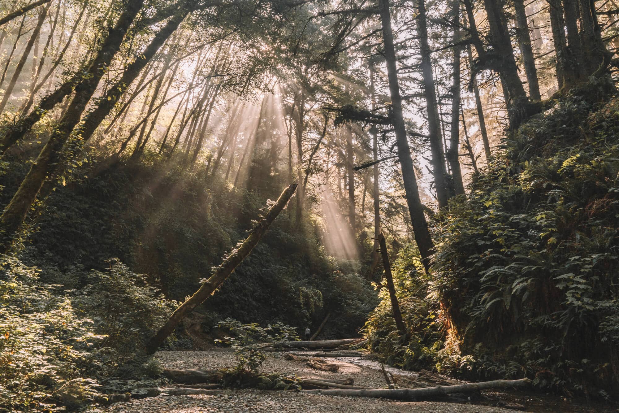
M 368 388 L 385 388 L 386 382 L 379 365 L 358 358 L 327 359 L 340 365 L 339 372 L 320 372 L 303 362 L 285 360 L 282 353 L 273 353 L 264 362 L 266 373 L 290 373 L 303 377 L 344 378 L 352 377 L 355 385 Z M 229 349 L 206 351 L 158 352 L 156 357 L 165 367 L 173 368 L 221 368 L 235 365 L 235 357 Z M 400 375 L 415 375 L 413 372 L 392 369 Z M 531 395 L 526 393 L 488 392 L 484 404 L 496 404 L 501 400 L 516 402 L 532 412 L 598 412 L 608 411 L 573 404 L 560 398 Z M 387 399 L 351 398 L 322 396 L 298 391 L 260 391 L 256 389 L 235 389 L 218 395 L 199 396 L 157 396 L 120 402 L 107 407 L 109 413 L 197 413 L 197 412 L 435 412 L 435 413 L 513 413 L 514 410 L 495 406 L 457 404 L 448 402 L 398 402 Z M 615 411 L 612 409 L 610 411 Z

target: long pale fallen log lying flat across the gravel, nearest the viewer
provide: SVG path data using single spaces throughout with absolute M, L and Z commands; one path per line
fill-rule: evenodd
M 355 396 L 365 398 L 384 398 L 396 400 L 417 400 L 423 398 L 432 398 L 443 396 L 451 393 L 465 393 L 467 391 L 476 391 L 483 389 L 509 388 L 509 387 L 524 387 L 529 385 L 531 381 L 528 378 L 520 380 L 493 380 L 482 381 L 481 383 L 467 383 L 465 385 L 455 386 L 436 386 L 426 387 L 422 389 L 363 389 L 363 390 L 301 390 L 303 393 L 324 394 L 326 396 Z

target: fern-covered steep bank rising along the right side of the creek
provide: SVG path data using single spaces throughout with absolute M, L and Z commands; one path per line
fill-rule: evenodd
M 450 204 L 431 276 L 394 271 L 409 334 L 384 299 L 366 326 L 374 351 L 472 380 L 616 394 L 618 173 L 618 98 L 571 98 L 530 120 Z M 406 253 L 402 264 L 414 267 Z

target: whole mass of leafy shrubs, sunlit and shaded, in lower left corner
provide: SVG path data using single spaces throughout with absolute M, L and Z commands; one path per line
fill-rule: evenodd
M 11 257 L 2 261 L 0 406 L 6 411 L 59 411 L 105 398 L 102 392 L 158 385 L 148 378 L 136 380 L 157 376 L 157 362 L 127 363 L 175 303 L 160 297 L 143 275 L 116 259 L 109 262 L 104 272 L 72 268 L 64 276 L 88 284 L 65 290 L 40 281 L 43 272 L 50 279 L 58 271 Z M 110 378 L 119 375 L 124 379 Z

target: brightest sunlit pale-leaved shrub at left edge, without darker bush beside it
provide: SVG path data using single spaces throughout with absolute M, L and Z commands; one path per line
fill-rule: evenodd
M 97 382 L 90 349 L 103 336 L 77 314 L 58 285 L 41 284 L 38 269 L 14 258 L 0 275 L 0 411 L 59 411 L 92 400 Z

